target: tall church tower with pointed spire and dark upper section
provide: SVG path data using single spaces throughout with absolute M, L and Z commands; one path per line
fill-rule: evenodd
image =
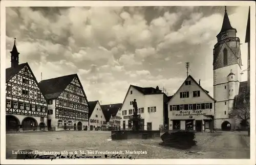
M 241 52 L 240 39 L 237 30 L 232 28 L 227 10 L 225 13 L 218 42 L 214 46 L 214 99 L 215 129 L 232 130 L 235 120 L 230 112 L 233 108 L 234 97 L 238 95 L 241 81 Z

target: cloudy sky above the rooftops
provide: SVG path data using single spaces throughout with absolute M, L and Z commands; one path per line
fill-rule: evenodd
M 242 69 L 248 7 L 227 7 L 240 37 Z M 89 101 L 122 103 L 130 84 L 173 95 L 189 74 L 212 93 L 212 49 L 224 7 L 8 7 L 6 67 L 16 37 L 19 62 L 39 82 L 77 73 Z M 247 79 L 247 73 L 242 81 Z

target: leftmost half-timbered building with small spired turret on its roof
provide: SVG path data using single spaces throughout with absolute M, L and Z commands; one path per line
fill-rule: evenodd
M 6 69 L 6 131 L 46 130 L 47 101 L 28 63 L 19 64 L 15 41 Z

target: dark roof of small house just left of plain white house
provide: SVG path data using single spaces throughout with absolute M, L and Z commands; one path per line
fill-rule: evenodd
M 100 107 L 105 116 L 106 122 L 109 122 L 111 115 L 116 116 L 118 110 L 122 107 L 122 103 L 101 105 Z

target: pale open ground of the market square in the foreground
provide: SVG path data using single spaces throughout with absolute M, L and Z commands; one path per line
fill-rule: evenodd
M 18 150 L 78 152 L 94 151 L 92 156 L 102 156 L 95 151 L 123 151 L 121 156 L 145 158 L 250 158 L 250 142 L 246 132 L 196 133 L 197 146 L 190 150 L 162 147 L 160 138 L 111 140 L 109 131 L 60 131 L 9 133 L 6 135 L 6 158 Z M 128 151 L 146 151 L 146 154 L 125 154 Z M 41 154 L 42 155 L 42 154 Z M 63 153 L 63 156 L 67 154 Z

